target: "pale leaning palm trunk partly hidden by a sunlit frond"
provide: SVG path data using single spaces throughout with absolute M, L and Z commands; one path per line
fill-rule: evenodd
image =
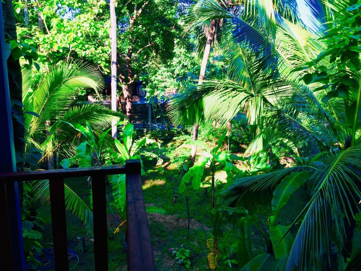
M 212 46 L 214 36 L 216 34 L 216 31 L 217 31 L 217 26 L 218 26 L 218 20 L 211 20 L 210 21 L 208 34 L 207 34 L 207 41 L 206 41 L 205 47 L 204 47 L 201 70 L 199 72 L 198 85 L 201 85 L 203 83 L 203 81 L 204 81 L 205 69 L 206 69 L 207 63 L 208 63 L 210 47 Z M 194 126 L 193 126 L 193 140 L 197 140 L 197 139 L 198 139 L 198 123 L 195 122 Z M 191 164 L 194 163 L 194 160 L 196 159 L 196 154 L 197 154 L 197 147 L 195 145 L 192 145 Z

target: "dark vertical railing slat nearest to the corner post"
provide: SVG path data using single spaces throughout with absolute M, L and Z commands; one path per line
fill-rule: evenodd
M 95 270 L 108 270 L 105 175 L 92 175 Z

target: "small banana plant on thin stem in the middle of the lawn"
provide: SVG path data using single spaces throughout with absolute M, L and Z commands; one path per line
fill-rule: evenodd
M 232 171 L 239 172 L 239 169 L 232 164 L 232 160 L 241 160 L 245 161 L 243 157 L 236 156 L 234 154 L 229 154 L 227 152 L 218 151 L 222 146 L 223 140 L 225 139 L 227 131 L 224 132 L 221 137 L 218 139 L 218 144 L 215 148 L 210 149 L 207 144 L 203 141 L 196 140 L 187 142 L 197 147 L 203 148 L 206 152 L 206 156 L 200 157 L 197 162 L 188 170 L 186 174 L 182 177 L 181 184 L 179 185 L 179 193 L 183 193 L 186 189 L 187 184 L 192 181 L 193 189 L 197 190 L 200 188 L 202 177 L 204 174 L 204 169 L 206 165 L 209 165 L 212 171 L 212 192 L 211 192 L 211 208 L 214 208 L 214 174 L 218 167 L 223 167 L 223 169 L 230 174 Z

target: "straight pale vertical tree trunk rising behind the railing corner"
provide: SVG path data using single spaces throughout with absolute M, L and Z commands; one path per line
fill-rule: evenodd
M 115 14 L 114 0 L 110 0 L 110 49 L 112 55 L 110 57 L 111 83 L 112 90 L 112 110 L 117 111 L 117 18 Z M 112 136 L 117 138 L 116 121 L 112 121 Z

